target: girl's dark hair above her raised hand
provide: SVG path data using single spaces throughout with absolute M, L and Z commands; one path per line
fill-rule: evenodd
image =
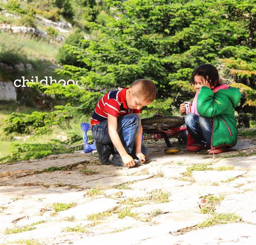
M 202 76 L 210 85 L 220 86 L 219 73 L 216 67 L 210 64 L 203 64 L 196 67 L 191 74 L 191 82 L 195 85 L 195 75 Z

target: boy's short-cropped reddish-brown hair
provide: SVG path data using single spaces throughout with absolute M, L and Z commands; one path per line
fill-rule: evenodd
M 131 84 L 133 95 L 142 97 L 145 102 L 152 102 L 156 98 L 156 85 L 149 79 L 138 79 Z

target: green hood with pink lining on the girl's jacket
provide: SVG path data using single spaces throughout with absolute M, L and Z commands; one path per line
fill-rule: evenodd
M 223 84 L 213 89 L 213 93 L 216 93 L 216 92 L 222 93 L 228 96 L 234 108 L 238 106 L 241 99 L 241 93 L 238 88 L 228 87 L 226 84 Z

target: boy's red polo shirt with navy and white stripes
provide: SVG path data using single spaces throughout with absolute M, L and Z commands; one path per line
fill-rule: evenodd
M 91 126 L 108 119 L 108 113 L 116 118 L 130 113 L 140 113 L 141 109 L 129 109 L 126 100 L 126 90 L 113 90 L 106 93 L 97 103 L 91 117 Z

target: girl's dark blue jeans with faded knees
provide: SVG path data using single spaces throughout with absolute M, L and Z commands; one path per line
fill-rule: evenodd
M 200 144 L 211 146 L 213 118 L 207 118 L 195 113 L 185 116 L 185 124 L 190 136 Z

